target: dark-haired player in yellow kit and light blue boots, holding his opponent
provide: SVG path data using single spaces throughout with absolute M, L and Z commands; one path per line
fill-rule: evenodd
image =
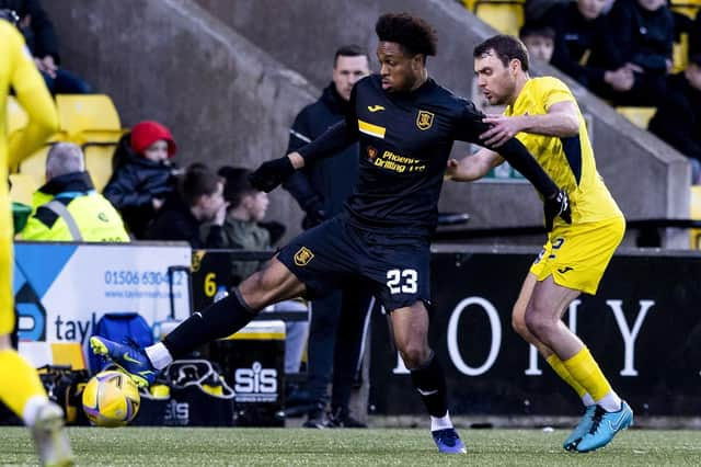
M 608 444 L 633 422 L 633 412 L 613 391 L 587 346 L 562 322 L 581 293 L 595 294 L 625 230 L 625 219 L 596 170 L 586 125 L 572 92 L 556 78 L 530 78 L 528 52 L 516 37 L 497 35 L 474 49 L 478 86 L 504 115 L 489 115 L 481 135 L 498 147 L 516 137 L 552 180 L 570 194 L 572 225 L 554 228 L 532 266 L 513 310 L 513 324 L 536 345 L 555 373 L 582 398 L 586 411 L 565 440 L 567 451 Z M 481 149 L 448 162 L 457 181 L 484 176 L 504 160 Z

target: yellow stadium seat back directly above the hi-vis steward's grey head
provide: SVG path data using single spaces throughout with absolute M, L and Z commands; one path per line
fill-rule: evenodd
M 105 94 L 57 94 L 59 130 L 65 139 L 82 145 L 88 141 L 116 141 L 122 136 L 117 110 Z

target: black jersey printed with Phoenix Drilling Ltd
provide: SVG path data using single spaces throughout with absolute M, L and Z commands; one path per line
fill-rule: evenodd
M 428 79 L 412 92 L 387 92 L 380 77 L 358 81 L 346 125 L 360 141 L 355 192 L 346 202 L 360 228 L 427 237 L 452 143 L 480 143 L 486 129 L 474 104 Z

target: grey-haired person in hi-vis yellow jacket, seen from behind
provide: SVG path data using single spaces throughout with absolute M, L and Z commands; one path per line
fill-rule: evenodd
M 85 172 L 83 152 L 58 143 L 46 157 L 46 184 L 32 201 L 24 240 L 129 241 L 119 213 L 97 193 Z

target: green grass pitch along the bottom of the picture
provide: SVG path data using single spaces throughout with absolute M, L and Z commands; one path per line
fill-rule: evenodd
M 596 453 L 570 454 L 555 430 L 468 430 L 467 456 L 440 455 L 427 430 L 71 428 L 84 466 L 698 466 L 701 431 L 628 430 Z M 0 465 L 35 465 L 28 432 L 0 428 Z

